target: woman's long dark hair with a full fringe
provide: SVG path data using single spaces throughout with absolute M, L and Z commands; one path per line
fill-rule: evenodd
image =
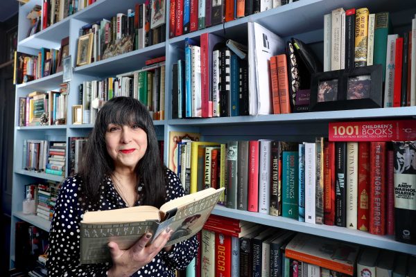
M 97 204 L 103 180 L 111 176 L 114 171 L 114 161 L 107 153 L 105 145 L 105 132 L 109 124 L 129 126 L 135 124 L 146 132 L 147 150 L 135 169 L 137 185 L 139 182 L 144 184 L 141 190 L 141 203 L 159 208 L 165 202 L 166 169 L 159 156 L 153 120 L 146 107 L 130 97 L 112 98 L 98 111 L 80 168 L 80 176 L 85 184 L 85 196 L 93 204 Z

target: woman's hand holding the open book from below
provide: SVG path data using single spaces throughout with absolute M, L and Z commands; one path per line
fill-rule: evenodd
M 172 233 L 171 229 L 166 229 L 152 244 L 146 247 L 146 244 L 152 238 L 152 234 L 147 233 L 127 250 L 120 250 L 116 242 L 109 242 L 108 247 L 110 248 L 113 266 L 107 271 L 107 276 L 132 276 L 141 267 L 153 260 L 171 238 Z

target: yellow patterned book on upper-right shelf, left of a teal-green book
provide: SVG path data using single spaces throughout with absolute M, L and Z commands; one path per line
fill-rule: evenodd
M 356 10 L 354 66 L 367 65 L 368 9 Z

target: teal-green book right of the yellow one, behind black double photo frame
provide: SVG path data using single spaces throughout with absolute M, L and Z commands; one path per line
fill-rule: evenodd
M 389 12 L 376 13 L 374 26 L 373 64 L 383 65 L 383 82 L 385 81 L 385 57 L 387 54 L 387 36 L 392 30 Z

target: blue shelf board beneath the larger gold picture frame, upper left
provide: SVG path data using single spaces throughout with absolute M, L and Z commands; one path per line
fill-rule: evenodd
M 129 53 L 110 57 L 105 60 L 78 66 L 74 69 L 75 73 L 93 75 L 97 77 L 107 77 L 135 71 L 144 66 L 144 62 L 154 57 L 165 55 L 165 42 L 141 48 Z

